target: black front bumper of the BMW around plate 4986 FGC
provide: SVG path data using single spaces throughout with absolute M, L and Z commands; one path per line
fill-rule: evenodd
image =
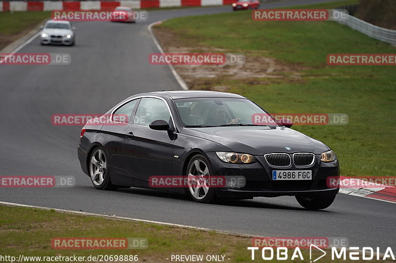
M 335 195 L 339 188 L 331 188 L 327 185 L 327 178 L 340 176 L 338 161 L 324 163 L 320 161 L 320 155 L 315 155 L 312 167 L 296 168 L 294 165 L 287 169 L 272 168 L 265 161 L 264 156 L 255 156 L 258 162 L 253 164 L 229 164 L 222 162 L 214 152 L 206 153 L 214 175 L 221 176 L 244 176 L 246 184 L 242 188 L 215 188 L 219 197 L 250 198 L 257 196 L 324 196 Z M 311 170 L 312 180 L 273 180 L 270 175 L 274 170 Z

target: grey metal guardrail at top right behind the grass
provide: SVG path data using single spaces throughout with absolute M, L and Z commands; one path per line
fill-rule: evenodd
M 335 12 L 341 11 L 335 10 Z M 347 14 L 346 20 L 339 20 L 337 22 L 347 25 L 348 27 L 353 28 L 354 30 L 357 30 L 374 39 L 396 45 L 396 30 L 386 29 L 370 24 L 349 14 Z

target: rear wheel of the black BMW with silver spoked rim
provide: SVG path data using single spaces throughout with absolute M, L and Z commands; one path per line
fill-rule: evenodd
M 91 181 L 95 188 L 99 190 L 115 190 L 116 187 L 111 183 L 110 172 L 108 169 L 107 156 L 101 147 L 92 151 L 89 159 L 89 168 Z

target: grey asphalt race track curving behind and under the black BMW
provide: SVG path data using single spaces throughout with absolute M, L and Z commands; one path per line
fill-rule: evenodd
M 325 2 L 301 0 L 293 4 Z M 290 5 L 262 4 L 261 8 Z M 0 175 L 73 175 L 72 188 L 0 188 L 0 201 L 178 223 L 260 236 L 347 237 L 349 246 L 396 247 L 395 204 L 339 194 L 324 211 L 294 197 L 255 198 L 221 205 L 138 188 L 99 191 L 77 160 L 81 127 L 53 126 L 52 114 L 100 114 L 136 93 L 179 89 L 168 66 L 150 65 L 158 52 L 148 24 L 176 16 L 230 12 L 231 6 L 149 11 L 136 24 L 75 22 L 76 45 L 20 53 L 70 53 L 71 64 L 0 65 Z

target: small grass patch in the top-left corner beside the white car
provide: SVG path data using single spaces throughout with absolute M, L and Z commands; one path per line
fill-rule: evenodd
M 50 11 L 0 12 L 0 34 L 13 35 L 50 17 Z

